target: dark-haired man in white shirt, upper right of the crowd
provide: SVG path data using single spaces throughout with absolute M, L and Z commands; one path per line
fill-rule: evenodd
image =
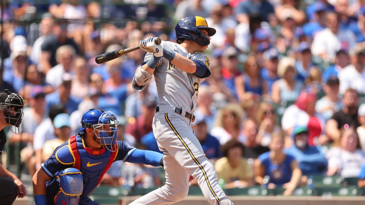
M 338 50 L 350 51 L 354 48 L 355 35 L 349 30 L 339 28 L 339 16 L 335 12 L 326 15 L 326 26 L 317 32 L 312 43 L 312 54 L 324 61 L 334 62 Z

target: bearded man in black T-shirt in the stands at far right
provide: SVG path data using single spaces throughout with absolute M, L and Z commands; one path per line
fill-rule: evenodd
M 341 83 L 341 82 L 340 82 Z M 336 141 L 340 138 L 340 129 L 345 124 L 354 126 L 355 128 L 360 126 L 357 118 L 359 94 L 354 89 L 347 89 L 342 97 L 343 108 L 335 112 L 331 119 L 326 123 L 326 135 L 331 141 Z

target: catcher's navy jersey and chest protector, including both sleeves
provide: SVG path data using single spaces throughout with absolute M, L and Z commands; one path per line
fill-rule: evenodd
M 84 139 L 80 135 L 72 136 L 68 142 L 54 150 L 53 154 L 42 164 L 42 169 L 52 179 L 58 170 L 69 167 L 80 170 L 84 181 L 84 191 L 80 196 L 81 202 L 82 198 L 87 197 L 99 185 L 112 162 L 126 161 L 128 156 L 136 150 L 126 142 L 116 141 L 116 144 L 118 147 L 115 152 L 111 152 L 105 147 L 92 149 L 85 147 Z

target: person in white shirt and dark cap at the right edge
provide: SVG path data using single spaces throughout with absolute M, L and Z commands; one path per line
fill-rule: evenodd
M 351 64 L 338 73 L 339 93 L 343 94 L 349 88 L 355 89 L 359 94 L 365 93 L 365 51 L 352 50 L 350 56 Z

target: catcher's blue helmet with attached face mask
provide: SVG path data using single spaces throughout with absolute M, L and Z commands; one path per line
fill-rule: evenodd
M 118 131 L 118 120 L 111 111 L 102 109 L 90 109 L 81 118 L 82 128 L 78 131 L 84 131 L 86 128 L 94 129 L 95 135 L 100 139 L 100 143 L 114 152 L 116 151 L 116 138 Z M 96 134 L 96 131 L 99 134 Z

